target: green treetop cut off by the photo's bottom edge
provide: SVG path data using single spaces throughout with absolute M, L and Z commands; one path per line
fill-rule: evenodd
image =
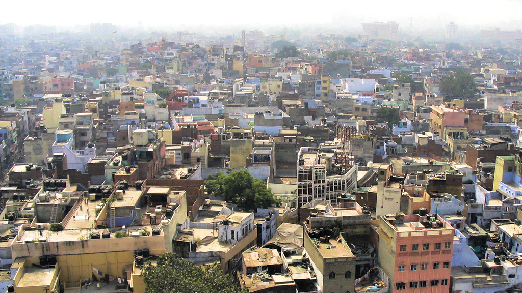
M 156 265 L 146 264 L 141 273 L 146 293 L 240 293 L 230 275 L 218 263 L 196 266 L 177 258 L 174 253 L 160 255 Z

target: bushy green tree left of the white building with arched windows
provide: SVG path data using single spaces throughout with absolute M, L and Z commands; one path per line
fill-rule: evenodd
M 210 176 L 205 186 L 209 194 L 222 196 L 224 200 L 245 210 L 281 204 L 266 187 L 266 182 L 254 178 L 247 170 L 229 172 L 228 175 L 220 172 L 216 176 Z

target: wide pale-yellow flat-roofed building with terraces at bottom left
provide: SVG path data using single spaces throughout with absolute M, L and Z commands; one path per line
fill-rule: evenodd
M 159 203 L 156 202 L 143 206 L 146 211 L 132 221 L 133 225 L 138 226 L 118 225 L 111 229 L 99 227 L 103 223 L 107 225 L 108 217 L 111 221 L 127 217 L 129 210 L 134 210 L 139 202 L 145 201 L 144 198 L 155 192 L 167 194 L 168 203 L 163 203 L 162 209 L 158 209 Z M 66 289 L 80 289 L 86 281 L 92 282 L 94 286 L 108 286 L 100 280 L 109 278 L 114 289 L 118 285 L 118 278 L 131 279 L 135 251 L 143 251 L 144 258 L 145 254 L 159 255 L 173 251 L 172 239 L 178 225 L 187 218 L 186 192 L 168 187 L 136 189 L 134 182 L 131 182 L 125 192 L 120 194 L 121 198 L 117 194 L 114 190 L 111 197 L 113 201 L 108 201 L 110 206 L 102 204 L 101 200 L 92 202 L 80 197 L 60 223 L 63 231 L 49 230 L 48 223 L 20 226 L 11 243 L 11 253 L 16 260 L 11 268 L 18 270 L 16 292 L 42 292 L 39 289 L 45 286 L 51 289 L 58 278 L 65 283 Z M 37 198 L 41 197 L 37 194 Z M 100 205 L 101 210 L 98 210 Z M 175 210 L 167 215 L 165 206 L 174 206 Z M 111 215 L 112 212 L 114 214 Z M 33 263 L 47 270 L 42 271 L 46 281 L 38 283 L 38 290 L 30 286 L 31 278 L 37 272 L 25 270 L 28 266 L 32 267 Z M 19 290 L 18 287 L 27 287 L 27 290 Z

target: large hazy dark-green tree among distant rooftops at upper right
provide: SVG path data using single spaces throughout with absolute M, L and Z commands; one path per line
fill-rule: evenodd
M 477 84 L 473 76 L 464 71 L 457 70 L 441 78 L 440 90 L 447 99 L 469 99 L 477 92 Z

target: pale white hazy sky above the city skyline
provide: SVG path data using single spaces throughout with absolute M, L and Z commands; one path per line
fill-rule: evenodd
M 115 25 L 152 27 L 227 27 L 314 25 L 361 28 L 366 21 L 396 21 L 402 30 L 443 28 L 522 28 L 520 0 L 438 1 L 4 1 L 0 24 L 19 26 Z M 27 4 L 27 5 L 26 5 Z M 497 8 L 498 7 L 498 8 Z

